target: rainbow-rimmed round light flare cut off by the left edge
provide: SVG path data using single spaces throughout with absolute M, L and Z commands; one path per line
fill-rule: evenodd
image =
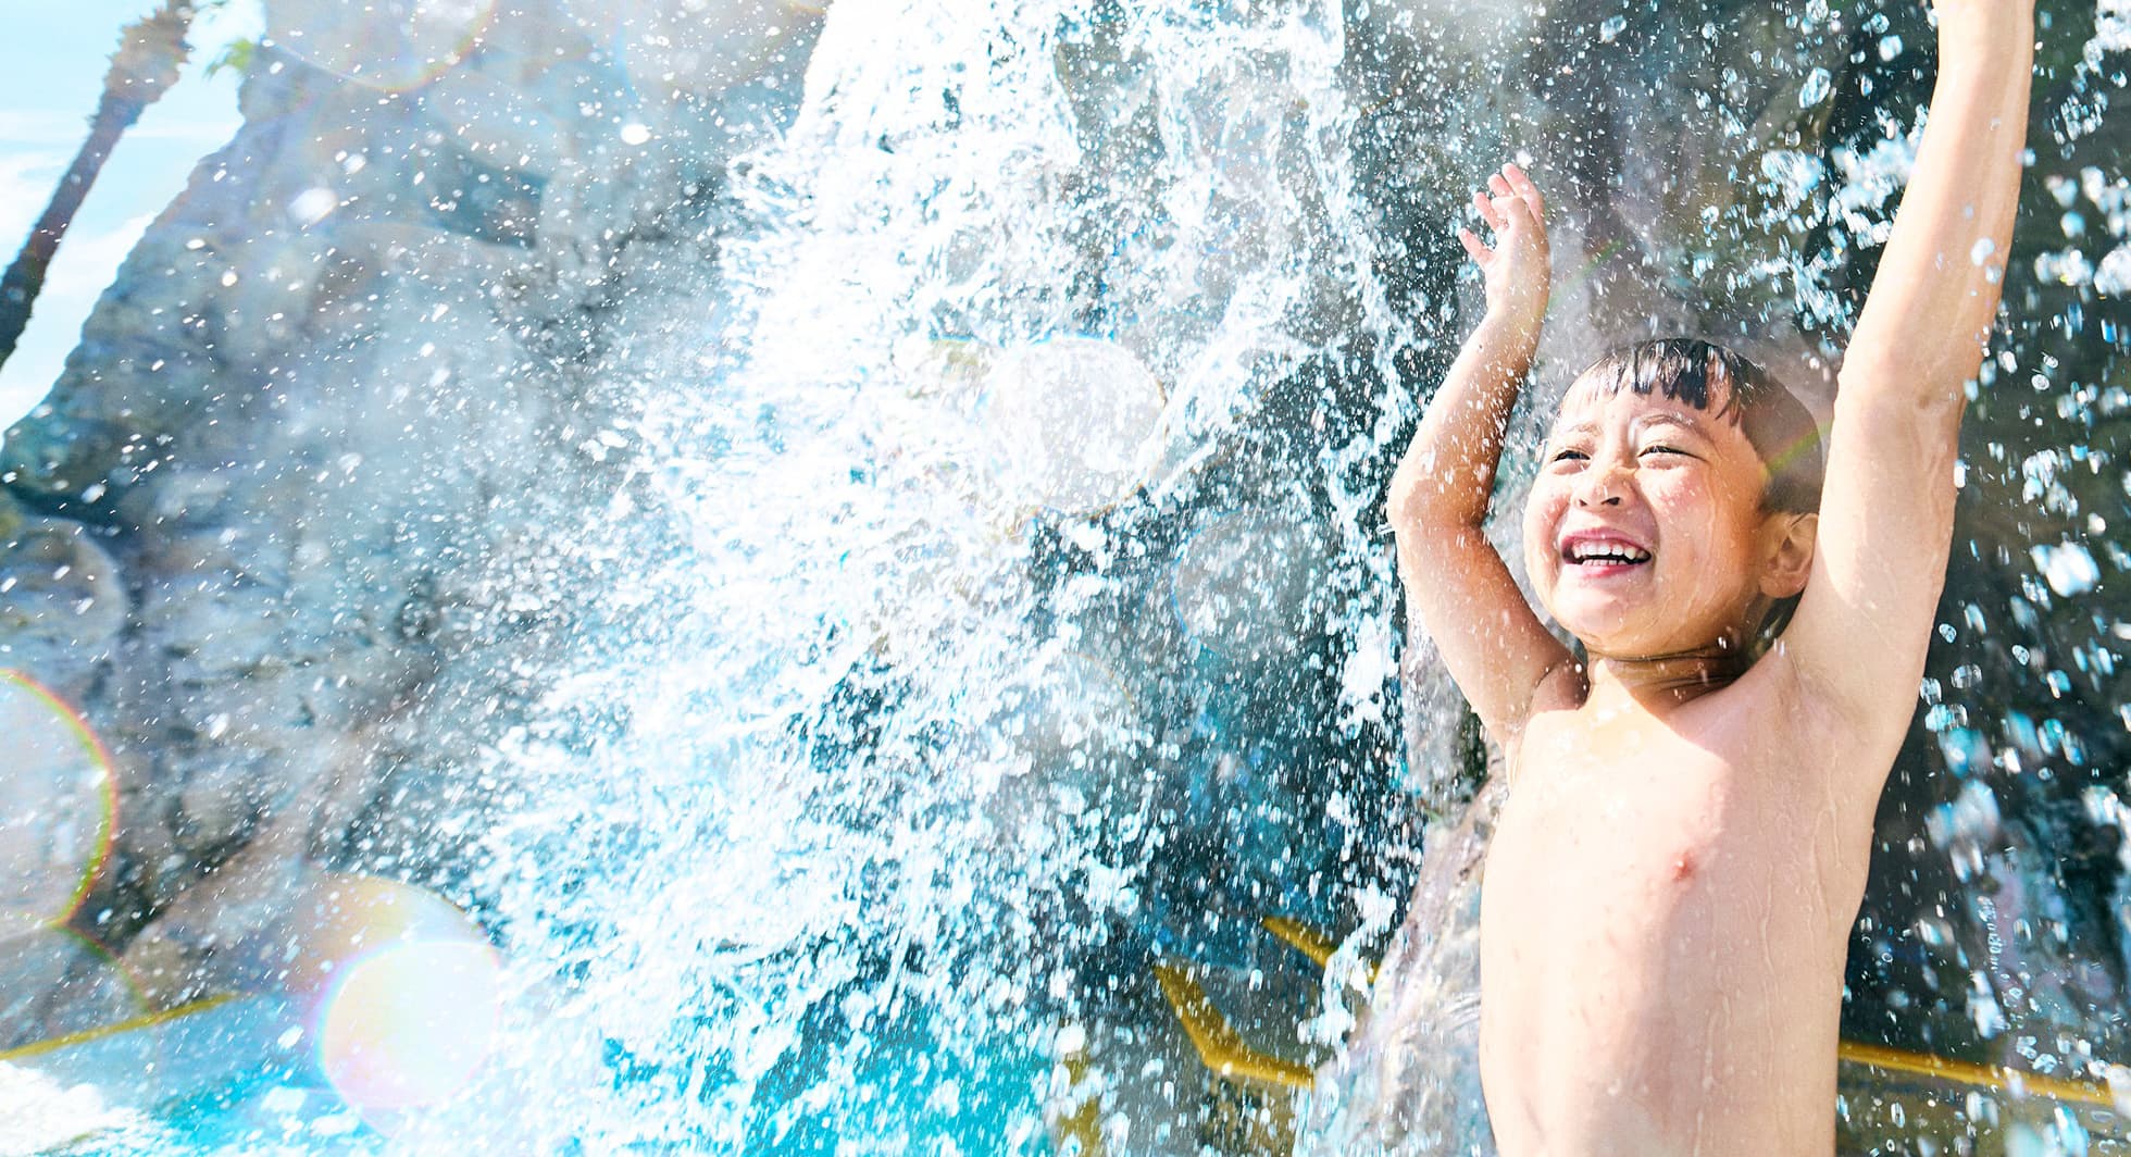
M 0 940 L 64 925 L 111 857 L 117 773 L 81 712 L 0 671 Z

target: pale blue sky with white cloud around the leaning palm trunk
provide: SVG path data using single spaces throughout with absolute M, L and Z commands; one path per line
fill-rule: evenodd
M 104 64 L 119 30 L 158 0 L 26 0 L 9 4 L 0 45 L 0 266 L 45 211 L 51 190 L 87 134 Z M 119 141 L 81 215 L 75 217 L 45 294 L 15 356 L 0 366 L 0 428 L 28 413 L 51 388 L 96 296 L 117 273 L 141 230 L 185 188 L 194 162 L 237 132 L 237 75 L 209 79 L 224 45 L 256 34 L 258 0 L 232 0 L 202 15 L 192 62 L 177 87 Z

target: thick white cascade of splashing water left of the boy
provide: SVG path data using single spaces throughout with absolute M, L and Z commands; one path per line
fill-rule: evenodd
M 1117 1025 L 1106 959 L 1208 935 L 1144 903 L 1164 846 L 1287 771 L 1174 680 L 1321 633 L 1296 620 L 1317 520 L 1268 496 L 1149 533 L 1274 386 L 1389 315 L 1336 217 L 1338 60 L 1317 4 L 831 13 L 686 290 L 712 326 L 635 303 L 671 335 L 652 377 L 701 386 L 635 422 L 658 447 L 635 522 L 661 531 L 584 535 L 639 560 L 624 597 L 658 629 L 588 639 L 505 752 L 509 955 L 571 978 L 560 1014 L 622 1074 L 556 1119 L 1021 1151 L 1059 1027 Z M 1274 609 L 1208 586 L 1274 573 Z M 1146 773 L 1185 759 L 1204 791 Z M 1242 859 L 1281 863 L 1304 822 L 1266 816 Z

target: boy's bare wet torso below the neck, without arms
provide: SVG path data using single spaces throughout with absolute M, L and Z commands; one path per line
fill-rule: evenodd
M 1662 716 L 1526 724 L 1481 891 L 1504 1157 L 1831 1153 L 1871 842 L 1841 784 L 1894 752 L 1803 699 L 1762 661 Z

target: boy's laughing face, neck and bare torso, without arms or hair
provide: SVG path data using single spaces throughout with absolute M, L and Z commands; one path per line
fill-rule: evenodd
M 1762 488 L 1737 426 L 1662 396 L 1573 390 L 1547 443 L 1526 565 L 1588 658 L 1504 746 L 1481 906 L 1504 1153 L 1833 1142 L 1871 814 L 1826 786 L 1894 752 L 1801 695 L 1782 650 L 1743 663 L 1809 560 L 1811 520 Z

